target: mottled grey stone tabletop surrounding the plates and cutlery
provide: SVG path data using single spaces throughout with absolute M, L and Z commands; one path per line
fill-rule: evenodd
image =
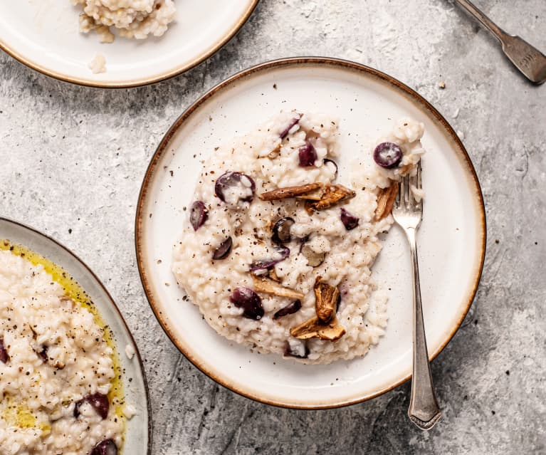
M 476 3 L 546 50 L 544 0 Z M 443 419 L 429 433 L 406 418 L 409 384 L 323 412 L 218 387 L 162 333 L 140 285 L 135 204 L 164 132 L 237 70 L 304 55 L 350 58 L 409 84 L 476 165 L 488 253 L 471 313 L 432 365 Z M 546 85 L 528 84 L 446 0 L 262 0 L 222 51 L 152 87 L 80 88 L 0 52 L 0 213 L 73 249 L 119 303 L 146 360 L 154 455 L 546 454 L 545 105 Z

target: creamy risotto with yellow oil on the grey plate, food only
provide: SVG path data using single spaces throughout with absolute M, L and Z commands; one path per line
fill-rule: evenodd
M 122 446 L 125 417 L 104 337 L 42 265 L 0 251 L 1 455 L 90 454 L 108 439 Z M 90 404 L 97 394 L 108 403 L 103 417 Z

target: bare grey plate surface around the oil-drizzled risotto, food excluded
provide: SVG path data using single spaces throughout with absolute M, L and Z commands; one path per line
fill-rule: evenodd
M 135 340 L 108 291 L 85 263 L 55 240 L 23 224 L 0 218 L 0 239 L 18 244 L 38 253 L 65 270 L 88 294 L 98 313 L 113 335 L 122 369 L 125 402 L 137 409 L 137 414 L 127 420 L 125 444 L 121 455 L 150 455 L 152 452 L 152 419 L 150 417 L 147 383 L 142 360 Z M 125 346 L 135 349 L 130 360 Z

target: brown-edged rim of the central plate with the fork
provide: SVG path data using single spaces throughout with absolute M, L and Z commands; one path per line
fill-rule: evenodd
M 264 404 L 270 404 L 275 407 L 282 407 L 287 409 L 334 409 L 339 407 L 345 407 L 350 406 L 352 404 L 357 404 L 361 402 L 365 402 L 369 399 L 373 399 L 375 397 L 379 397 L 380 395 L 389 392 L 392 389 L 395 389 L 401 384 L 404 384 L 407 380 L 411 378 L 411 373 L 407 375 L 406 377 L 403 377 L 401 380 L 398 380 L 393 385 L 390 385 L 389 387 L 383 387 L 382 389 L 376 390 L 375 392 L 372 392 L 371 394 L 366 394 L 364 397 L 359 398 L 349 398 L 340 400 L 339 402 L 336 402 L 334 404 L 327 403 L 327 404 L 321 404 L 321 403 L 315 403 L 315 404 L 290 404 L 288 402 L 282 401 L 282 400 L 274 400 L 274 399 L 268 399 L 259 396 L 258 394 L 253 394 L 252 391 L 247 391 L 246 389 L 243 389 L 243 387 L 238 387 L 237 385 L 233 385 L 229 381 L 225 380 L 223 377 L 219 377 L 219 375 L 215 375 L 214 372 L 208 371 L 205 366 L 200 365 L 199 361 L 196 360 L 196 358 L 191 355 L 191 352 L 185 352 L 182 348 L 182 344 L 179 345 L 177 342 L 177 337 L 171 333 L 171 330 L 169 329 L 169 326 L 167 325 L 166 319 L 164 318 L 162 314 L 161 308 L 157 306 L 156 301 L 154 300 L 154 295 L 152 293 L 152 288 L 148 284 L 148 278 L 146 275 L 146 269 L 144 265 L 144 258 L 143 258 L 143 232 L 144 228 L 142 227 L 143 221 L 145 220 L 144 216 L 144 205 L 145 205 L 145 199 L 147 197 L 147 192 L 149 189 L 149 185 L 153 181 L 154 172 L 157 169 L 157 162 L 159 162 L 159 159 L 164 155 L 164 152 L 167 152 L 169 142 L 172 139 L 172 136 L 179 130 L 179 127 L 182 126 L 182 124 L 191 116 L 191 114 L 194 113 L 195 110 L 197 110 L 206 100 L 211 98 L 218 92 L 219 90 L 222 90 L 232 83 L 242 80 L 243 78 L 246 78 L 249 75 L 252 75 L 253 73 L 258 73 L 264 70 L 270 70 L 270 69 L 278 69 L 288 66 L 305 66 L 305 65 L 325 65 L 325 66 L 332 66 L 335 68 L 341 68 L 345 70 L 356 70 L 357 72 L 364 73 L 365 75 L 371 75 L 374 78 L 377 78 L 379 80 L 382 80 L 384 83 L 388 83 L 389 85 L 394 86 L 395 90 L 401 90 L 406 95 L 409 95 L 409 97 L 419 105 L 421 105 L 423 108 L 426 108 L 426 110 L 433 115 L 436 120 L 438 120 L 441 125 L 443 126 L 443 130 L 448 133 L 448 135 L 451 137 L 451 139 L 456 143 L 456 146 L 459 150 L 461 150 L 462 157 L 464 161 L 466 162 L 466 165 L 468 167 L 468 171 L 471 174 L 472 177 L 472 183 L 474 184 L 474 187 L 476 189 L 476 192 L 474 193 L 474 197 L 476 197 L 478 202 L 478 209 L 479 209 L 479 218 L 481 222 L 481 252 L 480 252 L 480 261 L 479 261 L 479 267 L 478 272 L 476 273 L 476 278 L 473 281 L 471 296 L 468 298 L 468 302 L 466 303 L 466 308 L 464 308 L 463 313 L 461 314 L 461 318 L 457 321 L 456 325 L 453 325 L 453 328 L 451 331 L 449 331 L 447 337 L 445 340 L 443 340 L 441 346 L 439 347 L 436 352 L 429 353 L 429 359 L 432 361 L 434 358 L 436 358 L 437 355 L 440 354 L 440 352 L 443 351 L 443 349 L 448 345 L 448 343 L 453 339 L 453 336 L 456 334 L 459 328 L 461 328 L 461 325 L 463 323 L 463 320 L 466 318 L 466 315 L 468 314 L 468 310 L 470 310 L 471 305 L 473 303 L 474 298 L 476 297 L 476 293 L 478 291 L 478 286 L 481 281 L 481 276 L 483 273 L 483 264 L 485 261 L 485 249 L 487 244 L 487 223 L 486 223 L 486 214 L 485 214 L 485 203 L 483 200 L 483 192 L 481 189 L 480 182 L 478 180 L 478 175 L 476 174 L 476 169 L 474 168 L 474 165 L 472 163 L 471 157 L 468 155 L 468 152 L 466 151 L 466 147 L 464 147 L 463 142 L 458 137 L 455 130 L 453 130 L 453 127 L 448 123 L 445 117 L 439 113 L 439 111 L 434 108 L 429 101 L 427 101 L 423 96 L 419 95 L 415 90 L 410 88 L 408 85 L 401 83 L 396 78 L 393 78 L 392 76 L 388 75 L 387 73 L 383 73 L 382 71 L 379 71 L 375 68 L 372 68 L 370 66 L 363 65 L 362 63 L 357 63 L 354 61 L 348 61 L 341 58 L 332 58 L 332 57 L 318 57 L 318 56 L 308 56 L 308 57 L 288 57 L 288 58 L 278 58 L 271 61 L 266 61 L 263 63 L 259 63 L 258 65 L 251 66 L 249 68 L 246 68 L 244 70 L 238 71 L 237 73 L 231 75 L 229 78 L 226 78 L 225 80 L 221 81 L 220 83 L 214 85 L 213 88 L 206 91 L 203 95 L 200 95 L 199 98 L 197 98 L 194 103 L 191 103 L 188 108 L 186 108 L 179 117 L 177 117 L 177 120 L 174 121 L 174 123 L 169 127 L 169 130 L 164 134 L 162 137 L 162 140 L 159 142 L 159 145 L 157 145 L 157 148 L 150 158 L 148 167 L 146 169 L 145 175 L 142 179 L 142 185 L 140 187 L 140 192 L 138 195 L 137 200 L 137 210 L 135 215 L 135 253 L 137 257 L 137 266 L 138 271 L 140 275 L 140 281 L 142 282 L 142 288 L 145 291 L 146 298 L 148 300 L 148 303 L 150 305 L 150 308 L 152 308 L 152 312 L 154 313 L 157 321 L 159 322 L 159 325 L 161 325 L 162 329 L 164 330 L 164 333 L 167 335 L 169 340 L 174 344 L 175 347 L 184 355 L 184 357 L 189 360 L 194 367 L 196 367 L 199 371 L 204 373 L 204 375 L 211 378 L 211 380 L 214 380 L 219 385 L 222 385 L 223 387 L 226 387 L 230 389 L 232 392 L 236 392 L 237 394 L 240 394 L 243 397 L 253 399 L 257 402 L 261 402 Z

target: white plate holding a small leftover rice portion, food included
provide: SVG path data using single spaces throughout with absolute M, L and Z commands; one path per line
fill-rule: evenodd
M 71 83 L 147 85 L 209 58 L 258 1 L 0 1 L 0 49 Z

